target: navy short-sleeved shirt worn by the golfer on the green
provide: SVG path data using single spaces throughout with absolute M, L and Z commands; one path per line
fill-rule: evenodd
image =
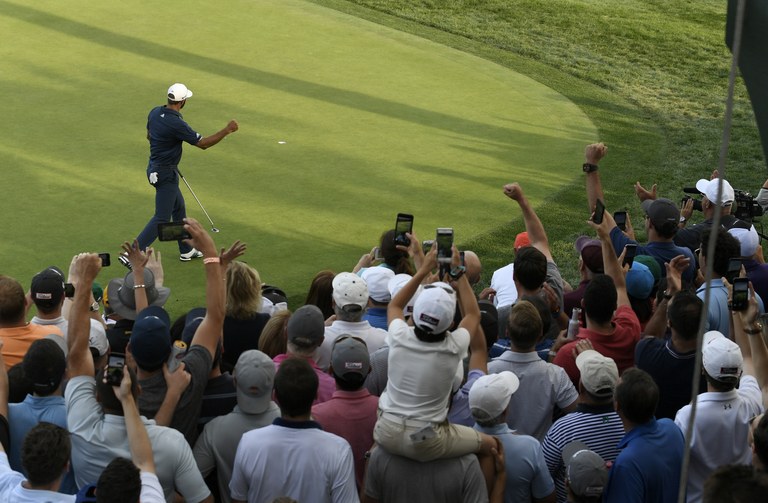
M 159 106 L 147 117 L 149 135 L 149 167 L 173 168 L 181 161 L 181 144 L 196 145 L 202 135 L 184 122 L 181 114 L 172 108 Z

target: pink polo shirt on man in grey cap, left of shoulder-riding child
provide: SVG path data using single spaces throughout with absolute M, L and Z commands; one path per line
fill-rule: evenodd
M 340 436 L 352 446 L 358 487 L 365 475 L 365 452 L 373 446 L 378 407 L 379 397 L 371 395 L 366 388 L 336 390 L 330 400 L 312 406 L 312 418 L 323 430 Z

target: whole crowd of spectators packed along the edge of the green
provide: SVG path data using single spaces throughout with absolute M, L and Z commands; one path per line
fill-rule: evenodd
M 761 501 L 760 234 L 715 172 L 701 218 L 636 184 L 639 242 L 605 200 L 606 152 L 585 150 L 575 286 L 518 183 L 525 228 L 485 289 L 483 257 L 390 230 L 292 312 L 245 244 L 191 218 L 205 305 L 176 320 L 137 242 L 103 290 L 91 253 L 29 288 L 0 276 L 0 501 Z

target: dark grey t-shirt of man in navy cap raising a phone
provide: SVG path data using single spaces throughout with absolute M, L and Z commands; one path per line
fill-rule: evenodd
M 185 371 L 192 375 L 192 379 L 176 405 L 176 412 L 173 414 L 170 426 L 183 433 L 189 445 L 195 445 L 197 420 L 200 417 L 203 392 L 208 383 L 208 375 L 211 373 L 213 362 L 211 353 L 199 345 L 189 348 L 182 361 L 185 363 Z M 153 419 L 168 391 L 165 376 L 162 372 L 158 372 L 148 379 L 140 380 L 139 384 L 141 385 L 139 411 L 144 416 Z

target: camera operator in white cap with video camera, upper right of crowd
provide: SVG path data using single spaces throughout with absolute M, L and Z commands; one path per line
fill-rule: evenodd
M 684 205 L 680 216 L 680 229 L 675 234 L 674 242 L 678 246 L 685 246 L 691 251 L 695 251 L 701 243 L 701 233 L 712 227 L 712 219 L 715 216 L 715 211 L 718 207 L 722 208 L 720 217 L 720 225 L 727 229 L 746 229 L 750 232 L 757 232 L 750 222 L 737 218 L 731 214 L 734 209 L 734 201 L 736 200 L 736 193 L 733 187 L 727 180 L 723 180 L 723 193 L 718 198 L 718 178 L 717 171 L 712 174 L 712 179 L 701 179 L 696 182 L 696 190 L 701 195 L 701 212 L 704 214 L 704 221 L 690 227 L 686 227 L 688 220 L 693 213 L 693 204 L 687 203 Z

